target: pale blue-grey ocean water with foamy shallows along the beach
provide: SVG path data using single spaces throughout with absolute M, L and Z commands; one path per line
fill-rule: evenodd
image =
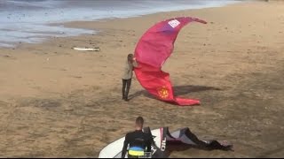
M 49 37 L 96 34 L 54 26 L 74 20 L 128 18 L 161 11 L 201 9 L 240 0 L 0 0 L 0 47 L 43 42 Z

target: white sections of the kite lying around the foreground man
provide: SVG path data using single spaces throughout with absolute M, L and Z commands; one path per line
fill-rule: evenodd
M 155 129 L 151 131 L 154 136 L 154 142 L 158 148 L 161 148 L 161 131 L 160 129 Z M 114 140 L 114 142 L 108 144 L 99 152 L 99 158 L 121 158 L 122 157 L 122 147 L 123 147 L 124 137 L 119 140 Z M 126 156 L 127 158 L 127 156 Z

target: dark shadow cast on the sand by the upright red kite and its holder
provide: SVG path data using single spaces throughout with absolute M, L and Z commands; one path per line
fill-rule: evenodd
M 217 88 L 217 87 L 187 85 L 187 86 L 173 87 L 173 90 L 174 90 L 174 94 L 176 96 L 179 96 L 179 95 L 186 95 L 186 94 L 193 93 L 193 92 L 201 92 L 201 91 L 206 91 L 206 90 L 222 90 L 222 89 Z M 134 93 L 133 95 L 130 95 L 129 99 L 131 100 L 131 99 L 138 97 L 140 95 L 144 95 L 148 98 L 155 99 L 154 96 L 150 95 L 146 90 L 141 90 L 141 91 Z

